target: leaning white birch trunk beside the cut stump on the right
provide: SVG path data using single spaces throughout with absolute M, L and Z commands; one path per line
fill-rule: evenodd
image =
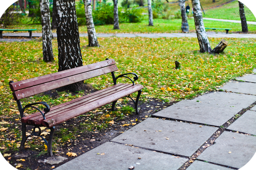
M 195 31 L 196 31 L 196 34 L 198 37 L 200 52 L 211 53 L 212 48 L 211 48 L 211 45 L 209 43 L 205 28 L 204 28 L 204 21 L 203 21 L 203 15 L 202 15 L 202 11 L 201 11 L 200 1 L 192 0 L 192 8 L 194 11 Z

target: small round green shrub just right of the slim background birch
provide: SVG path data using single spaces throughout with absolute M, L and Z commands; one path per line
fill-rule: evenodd
M 143 20 L 141 8 L 125 8 L 122 18 L 126 23 L 140 23 Z

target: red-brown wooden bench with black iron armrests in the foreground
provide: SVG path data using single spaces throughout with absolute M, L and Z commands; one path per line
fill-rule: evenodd
M 102 62 L 84 65 L 78 68 L 72 68 L 70 70 L 60 71 L 57 73 L 26 79 L 19 82 L 10 81 L 9 85 L 13 91 L 13 97 L 17 101 L 22 122 L 22 142 L 20 144 L 20 150 L 24 149 L 25 142 L 28 137 L 39 136 L 47 144 L 47 152 L 50 156 L 52 156 L 52 139 L 55 131 L 55 125 L 58 125 L 62 122 L 92 111 L 111 102 L 112 111 L 114 111 L 115 104 L 118 99 L 125 96 L 132 99 L 130 94 L 133 94 L 134 92 L 138 92 L 136 101 L 132 99 L 135 105 L 135 111 L 138 114 L 138 102 L 143 86 L 134 83 L 134 81 L 138 79 L 137 74 L 127 73 L 115 77 L 114 71 L 117 70 L 118 68 L 116 66 L 115 60 L 106 59 Z M 35 102 L 24 107 L 21 105 L 20 99 L 24 99 L 29 96 L 40 94 L 55 88 L 60 88 L 65 85 L 70 85 L 75 82 L 80 82 L 108 73 L 111 73 L 112 75 L 113 86 L 96 91 L 92 94 L 82 96 L 52 108 L 50 108 L 46 102 Z M 129 74 L 131 74 L 133 79 L 127 76 Z M 132 83 L 116 84 L 116 80 L 120 77 L 126 77 L 130 79 Z M 35 107 L 35 105 L 44 105 L 45 108 L 43 111 L 41 111 L 39 108 Z M 24 116 L 24 111 L 27 108 L 35 108 L 39 112 Z M 34 126 L 33 133 L 29 136 L 26 136 L 26 125 Z M 48 142 L 41 136 L 40 127 L 42 126 L 49 127 L 50 129 Z M 38 129 L 37 133 L 35 132 L 35 129 Z

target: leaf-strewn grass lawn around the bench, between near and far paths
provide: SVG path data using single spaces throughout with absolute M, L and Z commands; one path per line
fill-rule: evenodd
M 143 103 L 155 99 L 161 103 L 192 99 L 206 91 L 217 91 L 216 88 L 230 79 L 250 74 L 253 68 L 256 68 L 256 40 L 250 38 L 226 38 L 228 47 L 223 54 L 217 55 L 200 53 L 196 38 L 108 37 L 98 38 L 98 40 L 101 47 L 88 48 L 87 38 L 81 38 L 84 65 L 113 58 L 119 68 L 116 75 L 127 72 L 137 73 L 139 76 L 137 83 L 144 86 L 140 98 Z M 214 47 L 221 39 L 209 38 L 209 40 Z M 9 88 L 9 81 L 38 77 L 58 70 L 57 40 L 53 40 L 55 61 L 50 63 L 42 61 L 41 43 L 41 39 L 29 42 L 0 42 L 2 56 L 0 58 L 0 151 L 2 154 L 16 152 L 21 142 L 20 115 Z M 181 64 L 181 68 L 177 70 L 175 69 L 176 60 Z M 87 80 L 86 83 L 93 88 L 102 89 L 111 86 L 112 81 L 111 75 L 103 75 L 100 78 Z M 24 106 L 32 102 L 45 101 L 52 107 L 80 97 L 84 92 L 81 91 L 75 95 L 66 94 L 69 92 L 58 92 L 56 98 L 38 94 L 21 102 Z M 126 100 L 122 102 L 125 103 Z M 56 132 L 58 137 L 55 137 L 53 142 L 54 152 L 66 145 L 69 146 L 71 139 L 76 142 L 76 137 L 81 133 L 95 130 L 97 133 L 105 130 L 106 127 L 111 126 L 110 121 L 116 121 L 115 118 L 123 119 L 122 113 L 125 111 L 128 111 L 125 115 L 131 114 L 131 109 L 122 105 L 116 112 L 95 114 L 104 109 L 104 107 L 102 110 L 96 109 L 84 115 L 87 116 L 83 118 L 86 120 L 72 125 L 70 132 L 66 128 L 58 129 Z M 11 138 L 14 140 L 7 140 Z M 39 155 L 46 153 L 42 141 L 36 138 L 26 142 L 26 148 L 29 147 L 31 150 L 37 150 Z

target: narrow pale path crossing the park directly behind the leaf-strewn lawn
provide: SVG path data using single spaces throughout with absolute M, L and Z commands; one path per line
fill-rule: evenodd
M 9 37 L 29 37 L 29 33 L 3 33 L 3 36 Z M 159 33 L 159 34 L 97 34 L 97 37 L 147 37 L 147 38 L 160 38 L 160 37 L 197 37 L 196 33 Z M 226 34 L 225 31 L 219 31 L 218 33 L 207 31 L 207 36 L 211 38 L 256 38 L 256 34 Z M 42 33 L 32 33 L 32 37 L 42 37 Z M 56 33 L 53 33 L 53 37 L 57 37 Z M 87 37 L 87 34 L 80 34 L 80 37 Z M 29 39 L 26 39 L 29 40 Z M 12 42 L 12 39 L 0 39 L 0 41 Z M 13 41 L 23 41 L 23 39 L 15 39 Z

